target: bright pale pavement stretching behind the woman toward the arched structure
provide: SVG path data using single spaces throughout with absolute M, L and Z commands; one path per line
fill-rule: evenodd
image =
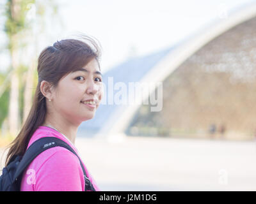
M 253 140 L 78 137 L 76 147 L 102 191 L 256 190 Z

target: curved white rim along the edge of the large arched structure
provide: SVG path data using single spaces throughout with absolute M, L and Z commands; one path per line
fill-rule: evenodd
M 168 54 L 161 59 L 148 73 L 140 80 L 141 83 L 157 83 L 163 82 L 164 79 L 172 74 L 182 62 L 193 55 L 197 50 L 204 47 L 211 40 L 225 33 L 232 27 L 239 25 L 246 20 L 256 17 L 256 4 L 250 4 L 239 11 L 236 11 L 227 18 L 220 18 L 218 21 L 202 29 L 196 35 L 183 41 L 178 47 L 173 48 Z M 156 87 L 152 87 L 150 92 Z M 145 93 L 148 94 L 148 93 Z M 145 96 L 144 96 L 145 97 Z M 147 96 L 148 97 L 148 96 Z M 141 98 L 142 100 L 142 98 Z M 129 126 L 132 117 L 138 111 L 140 105 L 125 106 L 120 112 L 113 113 L 109 117 L 108 122 L 103 125 L 97 136 L 120 136 L 125 135 L 124 131 Z

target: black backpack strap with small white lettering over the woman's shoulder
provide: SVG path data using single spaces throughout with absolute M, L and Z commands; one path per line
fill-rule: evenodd
M 53 137 L 53 136 L 47 136 L 44 138 L 40 138 L 38 140 L 36 140 L 35 142 L 33 142 L 28 150 L 26 150 L 24 156 L 22 157 L 20 164 L 17 168 L 17 171 L 15 172 L 15 175 L 13 177 L 13 182 L 17 181 L 19 179 L 19 177 L 22 175 L 22 172 L 28 167 L 28 165 L 33 161 L 33 159 L 35 159 L 36 156 L 38 156 L 40 153 L 44 152 L 44 150 L 50 149 L 52 147 L 65 147 L 66 149 L 70 150 L 70 152 L 72 152 L 73 154 L 76 154 L 76 152 L 74 151 L 74 149 L 72 149 L 72 147 L 70 147 L 70 145 L 68 145 L 66 142 L 64 142 L 63 140 Z M 81 168 L 83 170 L 84 173 L 84 182 L 85 182 L 85 190 L 89 190 L 89 191 L 95 191 L 92 182 L 90 182 L 90 180 L 88 179 L 87 175 L 86 175 L 86 171 L 84 170 L 84 166 L 83 163 L 81 161 L 81 159 L 79 158 L 79 156 L 77 156 L 80 164 L 81 164 Z

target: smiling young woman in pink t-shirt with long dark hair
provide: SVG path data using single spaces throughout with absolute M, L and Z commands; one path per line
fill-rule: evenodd
M 60 138 L 79 156 L 75 147 L 77 128 L 93 118 L 102 98 L 99 46 L 92 38 L 85 40 L 87 43 L 57 41 L 41 52 L 33 105 L 10 145 L 6 164 L 13 155 L 23 155 L 31 143 L 45 136 Z M 86 166 L 84 169 L 95 191 L 99 191 Z M 64 147 L 45 150 L 24 171 L 20 191 L 84 191 L 78 157 Z

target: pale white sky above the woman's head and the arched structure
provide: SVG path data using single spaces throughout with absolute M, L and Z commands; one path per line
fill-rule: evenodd
M 54 0 L 58 15 L 47 16 L 48 32 L 40 39 L 37 55 L 56 40 L 88 34 L 100 42 L 104 73 L 131 56 L 172 47 L 212 21 L 225 20 L 232 10 L 252 2 L 256 3 L 252 0 Z M 3 25 L 3 18 L 0 23 Z M 3 52 L 0 63 L 0 69 L 8 63 Z

